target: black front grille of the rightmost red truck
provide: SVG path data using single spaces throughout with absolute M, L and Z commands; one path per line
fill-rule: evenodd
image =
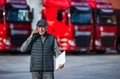
M 113 46 L 114 44 L 114 36 L 103 36 L 101 37 L 101 42 L 103 46 Z

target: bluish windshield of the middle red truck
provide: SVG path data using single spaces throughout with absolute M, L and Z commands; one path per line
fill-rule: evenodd
M 92 24 L 91 12 L 73 12 L 71 13 L 71 22 L 73 24 Z

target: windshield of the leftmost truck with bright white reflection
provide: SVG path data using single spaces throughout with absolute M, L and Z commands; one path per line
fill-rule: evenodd
M 30 22 L 30 15 L 28 10 L 9 10 L 6 13 L 6 20 L 8 22 Z

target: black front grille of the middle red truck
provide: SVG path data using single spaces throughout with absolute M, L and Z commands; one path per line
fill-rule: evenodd
M 90 36 L 77 36 L 75 37 L 75 41 L 78 47 L 88 47 L 90 44 Z

